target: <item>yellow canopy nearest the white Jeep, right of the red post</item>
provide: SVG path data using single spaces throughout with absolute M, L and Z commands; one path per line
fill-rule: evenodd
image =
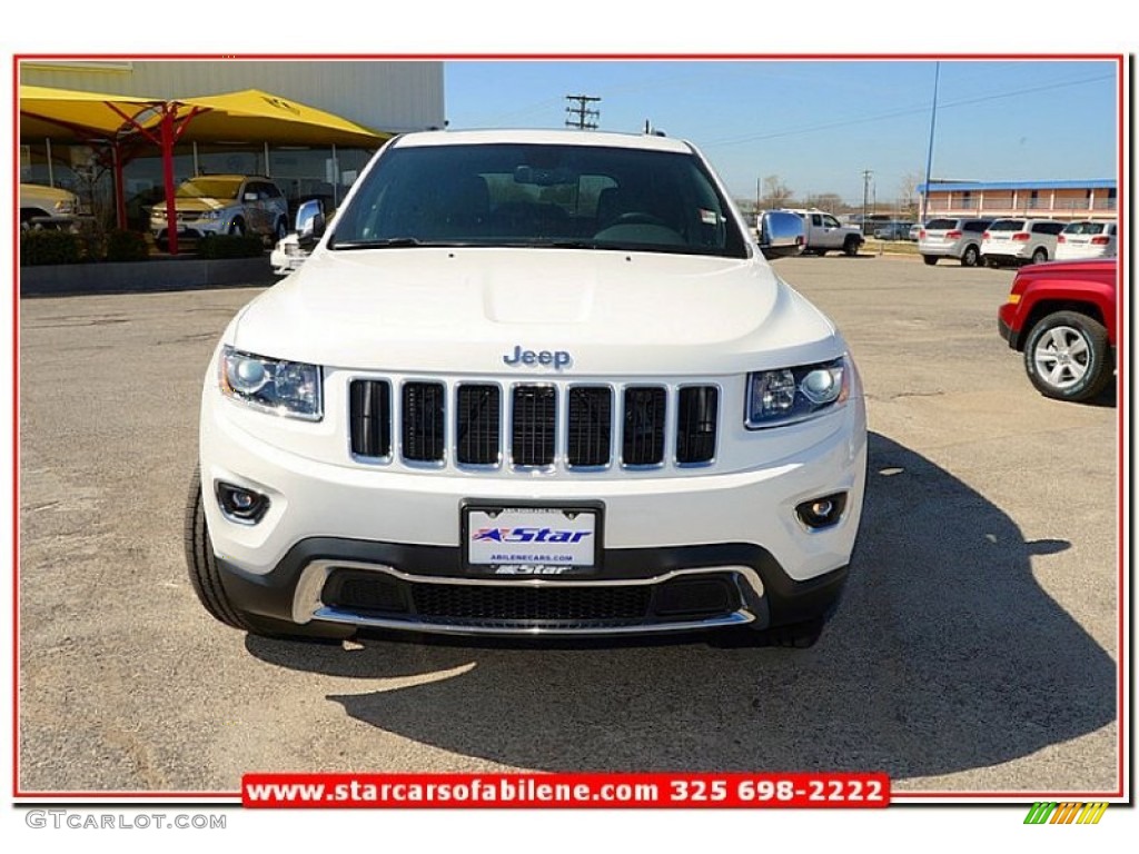
M 259 89 L 182 98 L 179 104 L 205 110 L 187 124 L 183 140 L 376 148 L 392 137 Z

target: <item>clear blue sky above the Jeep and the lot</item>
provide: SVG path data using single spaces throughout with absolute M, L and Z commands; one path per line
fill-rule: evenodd
M 940 69 L 939 69 L 940 68 Z M 778 175 L 802 200 L 833 192 L 861 204 L 863 172 L 879 203 L 924 179 L 934 83 L 935 179 L 1084 180 L 1118 171 L 1113 60 L 492 60 L 446 61 L 452 129 L 559 128 L 567 95 L 600 130 L 646 122 L 694 142 L 736 198 Z

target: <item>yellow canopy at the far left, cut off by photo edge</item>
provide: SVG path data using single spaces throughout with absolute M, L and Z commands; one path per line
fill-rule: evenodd
M 25 139 L 112 139 L 129 125 L 124 116 L 140 116 L 146 123 L 149 112 L 164 102 L 162 98 L 22 85 L 19 136 Z

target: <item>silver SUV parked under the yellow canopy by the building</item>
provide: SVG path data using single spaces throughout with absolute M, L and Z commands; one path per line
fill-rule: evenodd
M 174 191 L 179 239 L 212 235 L 260 235 L 279 240 L 288 233 L 288 202 L 272 179 L 259 175 L 198 175 Z M 166 243 L 166 203 L 150 208 L 150 233 Z

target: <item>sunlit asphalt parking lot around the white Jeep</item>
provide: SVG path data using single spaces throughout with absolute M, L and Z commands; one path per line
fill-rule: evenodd
M 1036 394 L 997 335 L 1011 271 L 776 264 L 846 335 L 872 433 L 851 583 L 809 650 L 224 627 L 186 577 L 182 508 L 205 364 L 257 290 L 22 301 L 19 788 L 826 769 L 898 791 L 1114 790 L 1114 393 Z

